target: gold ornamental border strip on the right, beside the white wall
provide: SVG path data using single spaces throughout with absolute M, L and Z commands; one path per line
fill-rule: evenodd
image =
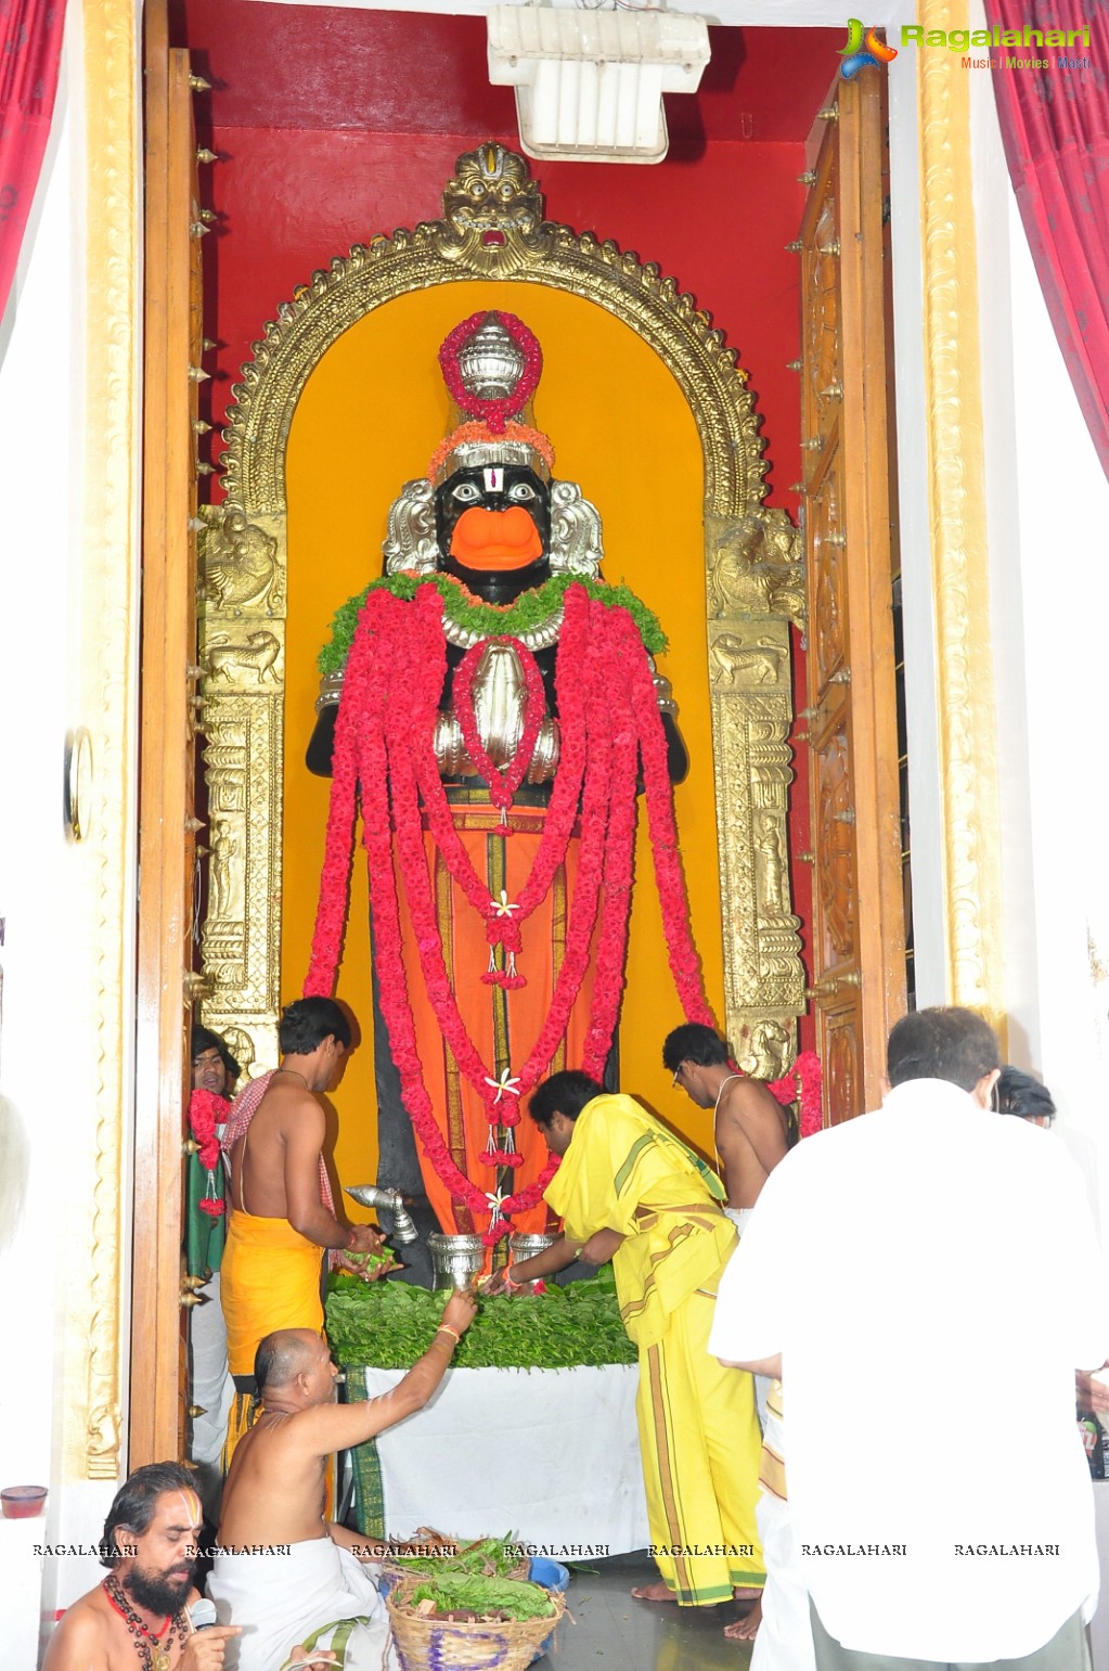
M 952 23 L 922 0 L 925 30 Z M 920 53 L 924 373 L 937 630 L 947 981 L 1004 1031 L 1000 817 L 990 657 L 979 269 L 970 84 L 957 55 Z

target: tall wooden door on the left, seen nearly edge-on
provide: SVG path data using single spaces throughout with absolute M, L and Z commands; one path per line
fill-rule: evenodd
M 200 227 L 190 65 L 145 13 L 139 1029 L 129 1465 L 184 1454 L 182 1196 L 192 1008 Z M 177 1377 L 169 1365 L 180 1365 Z

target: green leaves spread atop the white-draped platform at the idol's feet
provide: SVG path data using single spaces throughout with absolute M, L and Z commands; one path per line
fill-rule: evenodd
M 334 1357 L 371 1369 L 411 1369 L 431 1345 L 448 1298 L 387 1278 L 364 1283 L 339 1275 L 329 1288 L 327 1338 Z M 458 1369 L 573 1369 L 635 1360 L 611 1272 L 546 1293 L 481 1298 L 454 1350 Z

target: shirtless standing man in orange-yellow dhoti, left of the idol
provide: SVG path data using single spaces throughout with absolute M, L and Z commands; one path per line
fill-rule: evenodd
M 259 1340 L 276 1328 L 322 1333 L 324 1250 L 374 1253 L 381 1247 L 369 1225 L 351 1228 L 336 1218 L 322 1156 L 317 1093 L 332 1083 L 349 1049 L 347 1018 L 331 998 L 301 998 L 282 1011 L 277 1044 L 281 1068 L 241 1091 L 222 1136 L 230 1156 L 222 1300 L 235 1380 L 224 1469 L 249 1425 Z

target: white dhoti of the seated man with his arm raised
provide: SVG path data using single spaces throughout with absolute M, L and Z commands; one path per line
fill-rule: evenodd
M 329 1648 L 332 1626 L 361 1619 L 346 1639 L 344 1671 L 394 1671 L 396 1651 L 377 1586 L 349 1549 L 331 1537 L 272 1551 L 215 1556 L 207 1582 L 220 1624 L 239 1624 L 242 1636 L 227 1639 L 225 1671 L 281 1671 L 297 1643 L 314 1636 Z M 317 1634 L 322 1633 L 322 1634 Z

